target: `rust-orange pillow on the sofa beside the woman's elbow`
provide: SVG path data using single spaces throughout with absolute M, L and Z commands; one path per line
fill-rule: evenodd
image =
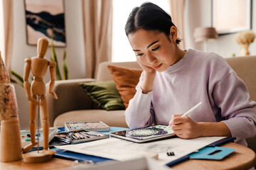
M 142 69 L 128 69 L 125 67 L 117 67 L 113 65 L 107 66 L 117 86 L 117 90 L 124 102 L 125 108 L 128 107 L 129 100 L 136 93 L 135 87 L 139 83 L 139 77 L 142 74 Z

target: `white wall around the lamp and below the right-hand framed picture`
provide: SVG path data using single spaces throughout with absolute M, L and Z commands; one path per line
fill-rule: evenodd
M 256 3 L 252 1 L 252 30 L 256 34 L 255 11 Z M 203 44 L 193 42 L 193 29 L 198 26 L 211 26 L 211 0 L 186 0 L 184 21 L 186 49 L 203 50 Z M 240 46 L 233 40 L 234 36 L 235 33 L 220 35 L 217 40 L 208 42 L 208 51 L 216 52 L 223 57 L 232 57 L 233 53 L 239 56 Z M 256 40 L 250 45 L 250 55 L 256 55 Z

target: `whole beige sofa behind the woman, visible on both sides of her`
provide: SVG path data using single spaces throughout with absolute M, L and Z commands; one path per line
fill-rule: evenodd
M 225 58 L 245 84 L 250 93 L 250 100 L 256 101 L 256 56 Z M 80 82 L 112 80 L 107 66 L 140 68 L 137 62 L 102 62 L 97 72 L 97 79 L 73 79 L 56 81 L 54 91 L 58 100 L 46 95 L 51 126 L 63 126 L 67 121 L 98 121 L 110 126 L 127 128 L 124 110 L 105 111 L 96 109 L 90 97 L 78 85 Z M 248 145 L 256 151 L 256 137 L 247 139 Z

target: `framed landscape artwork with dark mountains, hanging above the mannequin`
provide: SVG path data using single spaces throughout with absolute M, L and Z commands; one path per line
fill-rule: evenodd
M 65 47 L 64 1 L 24 0 L 24 3 L 28 45 L 37 45 L 39 38 L 47 38 L 49 42 L 53 38 L 55 47 Z

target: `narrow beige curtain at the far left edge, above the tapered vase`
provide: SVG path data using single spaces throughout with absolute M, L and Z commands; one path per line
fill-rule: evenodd
M 10 0 L 2 0 L 4 11 L 4 51 L 1 56 L 5 59 L 6 69 L 11 71 L 11 51 L 13 46 L 13 2 Z

